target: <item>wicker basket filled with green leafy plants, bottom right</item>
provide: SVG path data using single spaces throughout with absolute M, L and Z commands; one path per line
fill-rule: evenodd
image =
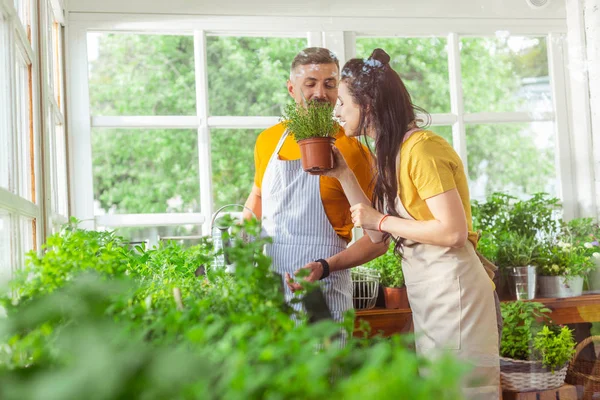
M 504 390 L 526 392 L 563 385 L 575 352 L 572 331 L 553 324 L 541 303 L 501 304 L 504 326 L 500 345 L 500 379 Z

